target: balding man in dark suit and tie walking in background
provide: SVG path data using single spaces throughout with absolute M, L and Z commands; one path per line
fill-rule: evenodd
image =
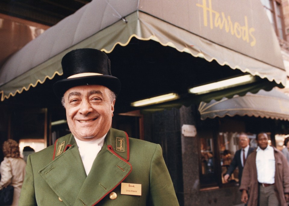
M 234 172 L 234 170 L 238 166 L 238 168 L 239 168 L 238 178 L 239 178 L 239 182 L 241 183 L 241 177 L 242 177 L 244 164 L 246 162 L 248 155 L 254 150 L 253 147 L 249 146 L 249 142 L 250 142 L 250 140 L 249 140 L 247 134 L 241 133 L 239 135 L 239 143 L 240 143 L 241 149 L 236 151 L 236 153 L 235 153 L 234 159 L 232 160 L 232 162 L 228 168 L 228 171 L 224 176 L 225 182 L 228 182 L 228 178 L 230 177 L 230 175 Z

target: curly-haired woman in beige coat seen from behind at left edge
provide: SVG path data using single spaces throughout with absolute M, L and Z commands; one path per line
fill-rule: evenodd
M 0 196 L 1 191 L 3 191 L 4 188 L 6 188 L 8 185 L 12 185 L 14 187 L 14 195 L 11 205 L 17 206 L 25 176 L 26 162 L 22 158 L 20 158 L 18 143 L 12 139 L 8 139 L 3 143 L 3 153 L 4 160 L 1 162 L 0 165 Z M 7 195 L 4 196 L 7 197 Z M 0 205 L 1 204 L 5 205 L 0 202 Z

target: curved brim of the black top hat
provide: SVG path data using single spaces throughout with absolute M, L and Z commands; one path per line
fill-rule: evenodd
M 64 93 L 72 87 L 81 85 L 102 85 L 109 88 L 116 95 L 120 93 L 120 80 L 110 75 L 95 75 L 77 78 L 62 79 L 54 83 L 53 91 L 55 95 L 61 99 Z

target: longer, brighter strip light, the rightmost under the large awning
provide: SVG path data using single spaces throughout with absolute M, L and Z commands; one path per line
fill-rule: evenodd
M 231 79 L 226 79 L 218 82 L 213 82 L 210 84 L 205 84 L 197 87 L 193 87 L 189 89 L 189 93 L 193 94 L 205 94 L 213 91 L 219 91 L 223 89 L 227 89 L 230 87 L 236 87 L 243 84 L 248 84 L 256 81 L 256 78 L 251 74 L 246 74 L 240 77 L 234 77 Z

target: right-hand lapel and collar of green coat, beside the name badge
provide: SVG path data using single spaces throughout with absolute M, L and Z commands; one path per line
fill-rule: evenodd
M 85 179 L 74 205 L 94 205 L 113 191 L 132 171 L 128 158 L 128 138 L 126 133 L 113 129 L 107 134 L 104 145 L 94 160 L 92 169 Z M 117 136 L 115 136 L 117 135 Z M 122 152 L 114 151 L 117 139 L 121 138 Z M 110 143 L 114 143 L 113 146 Z M 124 159 L 125 157 L 126 159 Z M 81 203 L 81 204 L 80 204 Z

